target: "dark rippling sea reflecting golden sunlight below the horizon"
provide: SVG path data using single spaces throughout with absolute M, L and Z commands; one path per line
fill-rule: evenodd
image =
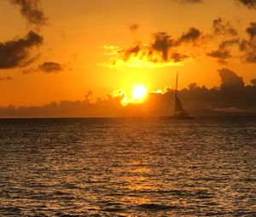
M 0 216 L 256 216 L 256 118 L 0 120 Z

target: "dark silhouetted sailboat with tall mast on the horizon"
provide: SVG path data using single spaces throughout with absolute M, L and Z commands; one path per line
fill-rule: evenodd
M 178 73 L 177 73 L 178 77 Z M 175 89 L 175 99 L 174 99 L 174 113 L 173 115 L 160 116 L 160 119 L 181 119 L 181 120 L 191 120 L 193 117 L 189 116 L 189 112 L 183 109 L 181 101 L 177 97 L 177 77 L 176 77 L 176 89 Z

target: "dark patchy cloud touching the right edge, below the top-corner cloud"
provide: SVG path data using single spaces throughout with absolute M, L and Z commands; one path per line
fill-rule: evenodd
M 242 40 L 239 47 L 246 63 L 256 63 L 256 22 L 247 27 L 248 40 Z

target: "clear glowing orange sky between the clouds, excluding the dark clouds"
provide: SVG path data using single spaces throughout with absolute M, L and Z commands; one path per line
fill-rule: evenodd
M 92 90 L 95 97 L 105 97 L 115 89 L 131 94 L 137 84 L 148 90 L 173 86 L 175 72 L 180 72 L 179 87 L 196 82 L 208 88 L 218 86 L 218 69 L 228 67 L 244 78 L 245 83 L 256 77 L 255 63 L 242 63 L 237 48 L 232 48 L 233 58 L 227 65 L 206 55 L 218 49 L 218 44 L 233 37 L 212 35 L 212 21 L 221 17 L 230 22 L 238 35 L 248 39 L 246 28 L 256 21 L 255 9 L 247 9 L 238 1 L 206 0 L 205 3 L 177 3 L 175 0 L 42 0 L 40 5 L 49 19 L 45 26 L 30 25 L 20 14 L 18 5 L 9 0 L 0 2 L 0 42 L 25 37 L 28 31 L 36 31 L 44 37 L 44 43 L 30 49 L 31 56 L 40 54 L 37 60 L 25 67 L 0 69 L 0 77 L 12 80 L 0 81 L 0 106 L 44 105 L 50 101 L 83 100 Z M 137 24 L 137 31 L 129 27 Z M 201 31 L 203 45 L 184 44 L 183 54 L 193 58 L 180 66 L 108 67 L 111 58 L 106 45 L 127 49 L 140 42 L 152 43 L 156 32 L 166 32 L 173 38 L 180 37 L 190 27 Z M 105 47 L 104 47 L 105 46 Z M 57 73 L 38 70 L 44 62 L 60 63 Z M 31 70 L 23 74 L 22 71 Z

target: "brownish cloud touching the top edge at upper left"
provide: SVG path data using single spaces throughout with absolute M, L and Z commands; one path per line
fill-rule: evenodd
M 47 17 L 39 7 L 39 0 L 9 0 L 9 2 L 20 6 L 20 14 L 26 18 L 29 24 L 38 27 L 45 25 Z

